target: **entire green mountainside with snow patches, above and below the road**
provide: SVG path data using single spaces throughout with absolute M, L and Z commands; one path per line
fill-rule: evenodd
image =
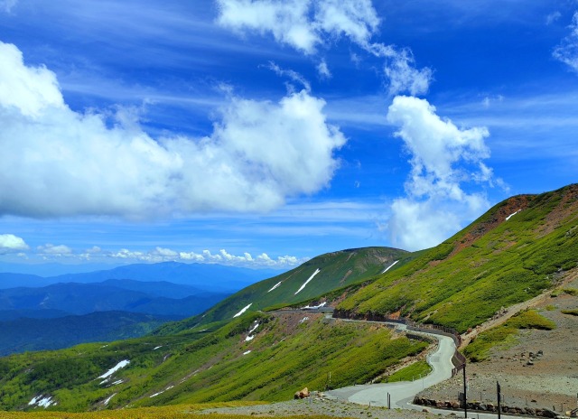
M 375 323 L 263 310 L 326 302 L 341 316 L 466 331 L 578 275 L 577 255 L 578 185 L 512 197 L 431 249 L 334 252 L 154 335 L 0 358 L 0 409 L 33 409 L 39 396 L 58 410 L 282 400 L 330 386 L 330 373 L 331 386 L 364 383 L 426 344 Z

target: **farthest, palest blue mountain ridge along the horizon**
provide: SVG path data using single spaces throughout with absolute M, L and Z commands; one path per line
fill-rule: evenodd
M 232 293 L 256 281 L 277 274 L 278 271 L 273 269 L 247 269 L 216 264 L 163 262 L 159 264 L 123 265 L 107 270 L 55 276 L 4 272 L 0 273 L 0 289 L 18 286 L 37 287 L 61 283 L 89 284 L 101 283 L 109 279 L 128 279 L 139 282 L 184 284 L 209 292 Z

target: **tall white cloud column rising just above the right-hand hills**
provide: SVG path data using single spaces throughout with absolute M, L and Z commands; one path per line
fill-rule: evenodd
M 394 98 L 387 121 L 398 127 L 412 166 L 406 197 L 391 206 L 391 240 L 410 250 L 435 246 L 489 207 L 483 193 L 463 188 L 491 185 L 491 169 L 482 162 L 489 157 L 489 132 L 461 129 L 437 116 L 426 100 L 403 96 Z

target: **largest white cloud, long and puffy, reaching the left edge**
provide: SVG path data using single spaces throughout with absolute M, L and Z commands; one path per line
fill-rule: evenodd
M 54 73 L 25 66 L 14 45 L 0 42 L 0 61 L 0 215 L 266 211 L 325 187 L 346 142 L 306 89 L 231 97 L 207 137 L 153 138 L 126 113 L 111 124 L 72 111 Z

